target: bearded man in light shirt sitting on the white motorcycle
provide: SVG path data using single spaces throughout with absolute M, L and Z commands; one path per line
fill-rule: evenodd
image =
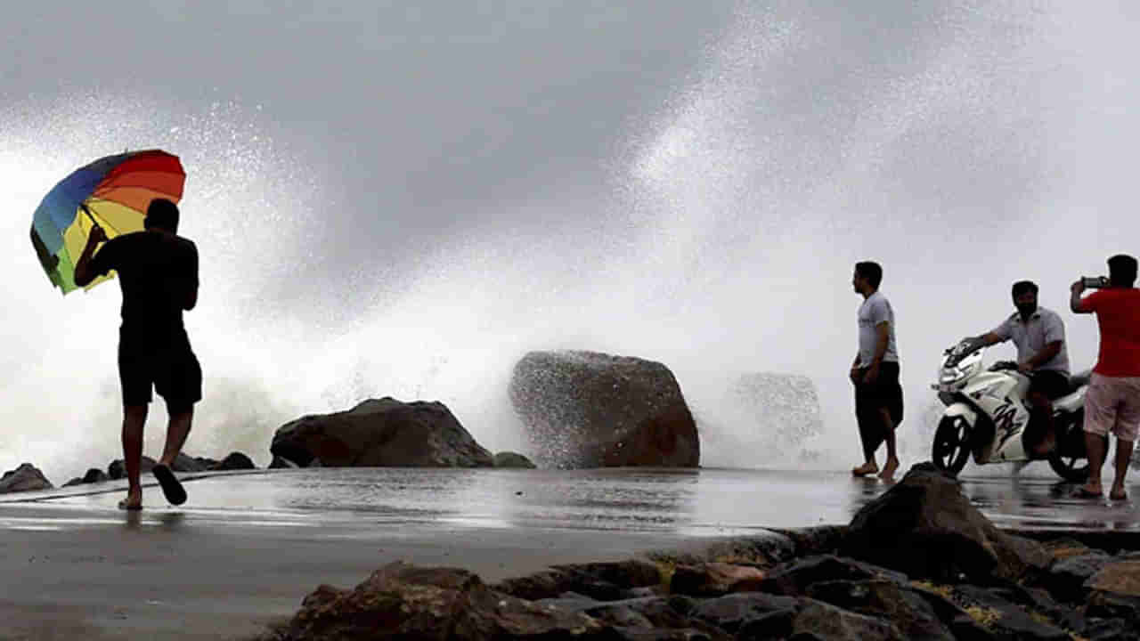
M 1069 391 L 1065 322 L 1056 311 L 1037 306 L 1037 285 L 1032 281 L 1013 283 L 1011 293 L 1017 311 L 970 340 L 985 347 L 1012 340 L 1017 346 L 1017 368 L 1031 376 L 1027 399 L 1032 409 L 1023 443 L 1027 453 L 1045 457 L 1057 446 L 1052 400 Z

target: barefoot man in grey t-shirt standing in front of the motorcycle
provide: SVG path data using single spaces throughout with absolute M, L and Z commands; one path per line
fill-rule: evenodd
M 855 420 L 863 441 L 864 462 L 852 470 L 856 477 L 879 472 L 874 452 L 887 441 L 887 462 L 879 473 L 891 479 L 898 469 L 895 428 L 903 420 L 903 388 L 898 384 L 898 348 L 895 343 L 895 311 L 879 291 L 882 267 L 878 262 L 855 263 L 852 285 L 863 297 L 858 308 L 858 352 L 852 363 L 855 383 Z

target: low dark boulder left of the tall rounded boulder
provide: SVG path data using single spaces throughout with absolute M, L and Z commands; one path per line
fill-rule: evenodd
M 490 468 L 442 403 L 368 399 L 348 412 L 303 416 L 282 425 L 269 451 L 302 468 Z

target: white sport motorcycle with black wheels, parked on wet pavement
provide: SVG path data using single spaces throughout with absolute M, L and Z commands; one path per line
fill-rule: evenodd
M 1023 437 L 1029 423 L 1025 396 L 1029 375 L 1016 363 L 999 362 L 992 367 L 982 363 L 984 347 L 964 340 L 947 349 L 931 389 L 946 406 L 934 435 L 931 457 L 938 468 L 958 474 L 970 454 L 974 462 L 1009 463 L 1031 461 Z M 1069 392 L 1053 400 L 1053 427 L 1057 448 L 1049 455 L 1049 466 L 1061 478 L 1083 482 L 1089 476 L 1084 448 L 1084 392 L 1089 372 L 1069 378 Z

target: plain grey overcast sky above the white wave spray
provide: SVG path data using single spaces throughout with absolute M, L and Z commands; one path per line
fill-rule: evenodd
M 258 124 L 329 184 L 348 253 L 596 193 L 622 132 L 732 15 L 726 1 L 130 5 L 6 8 L 5 99 L 260 106 Z

